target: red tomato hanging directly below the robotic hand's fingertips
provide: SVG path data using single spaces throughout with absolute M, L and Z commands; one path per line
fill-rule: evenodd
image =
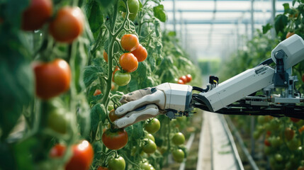
M 124 129 L 107 129 L 103 132 L 101 140 L 108 149 L 121 149 L 128 143 L 128 133 Z

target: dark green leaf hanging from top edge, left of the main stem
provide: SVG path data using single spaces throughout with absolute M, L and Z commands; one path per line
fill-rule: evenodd
M 89 24 L 92 33 L 96 33 L 103 24 L 103 12 L 96 1 L 91 1 L 89 4 L 90 11 L 87 12 Z

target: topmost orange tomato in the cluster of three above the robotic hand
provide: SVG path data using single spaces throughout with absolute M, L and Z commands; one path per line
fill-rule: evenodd
M 138 45 L 140 45 L 140 42 L 138 41 L 138 38 L 134 34 L 125 34 L 120 40 L 121 47 L 123 49 L 132 52 L 135 50 Z

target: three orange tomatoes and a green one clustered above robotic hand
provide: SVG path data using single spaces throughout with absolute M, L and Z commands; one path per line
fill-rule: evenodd
M 134 72 L 138 67 L 138 62 L 143 62 L 147 59 L 147 50 L 143 47 L 137 35 L 125 34 L 120 40 L 120 45 L 127 52 L 120 55 L 119 64 L 123 70 L 116 66 L 113 72 L 113 81 L 118 86 L 125 86 L 131 80 L 131 72 Z M 103 58 L 108 62 L 108 53 L 103 52 Z

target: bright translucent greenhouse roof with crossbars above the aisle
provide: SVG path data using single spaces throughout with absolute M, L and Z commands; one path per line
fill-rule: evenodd
M 175 10 L 174 10 L 175 3 Z M 272 1 L 250 0 L 164 0 L 167 12 L 164 27 L 175 30 L 181 45 L 193 57 L 225 57 L 237 47 L 244 46 L 244 37 L 253 30 L 271 22 Z M 276 15 L 283 13 L 283 4 L 292 1 L 275 1 Z M 175 11 L 175 15 L 174 15 Z M 174 22 L 175 16 L 175 22 Z

